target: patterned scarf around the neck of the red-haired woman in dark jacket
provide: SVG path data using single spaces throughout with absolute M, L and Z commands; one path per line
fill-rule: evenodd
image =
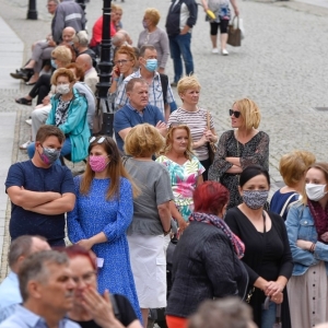
M 197 222 L 203 222 L 207 224 L 212 224 L 223 231 L 223 233 L 229 237 L 230 242 L 232 243 L 232 246 L 234 248 L 235 254 L 241 259 L 244 256 L 245 253 L 245 245 L 244 243 L 237 237 L 227 226 L 227 224 L 220 219 L 216 215 L 213 214 L 206 214 L 206 213 L 199 213 L 194 212 L 189 216 L 189 221 L 197 221 Z

